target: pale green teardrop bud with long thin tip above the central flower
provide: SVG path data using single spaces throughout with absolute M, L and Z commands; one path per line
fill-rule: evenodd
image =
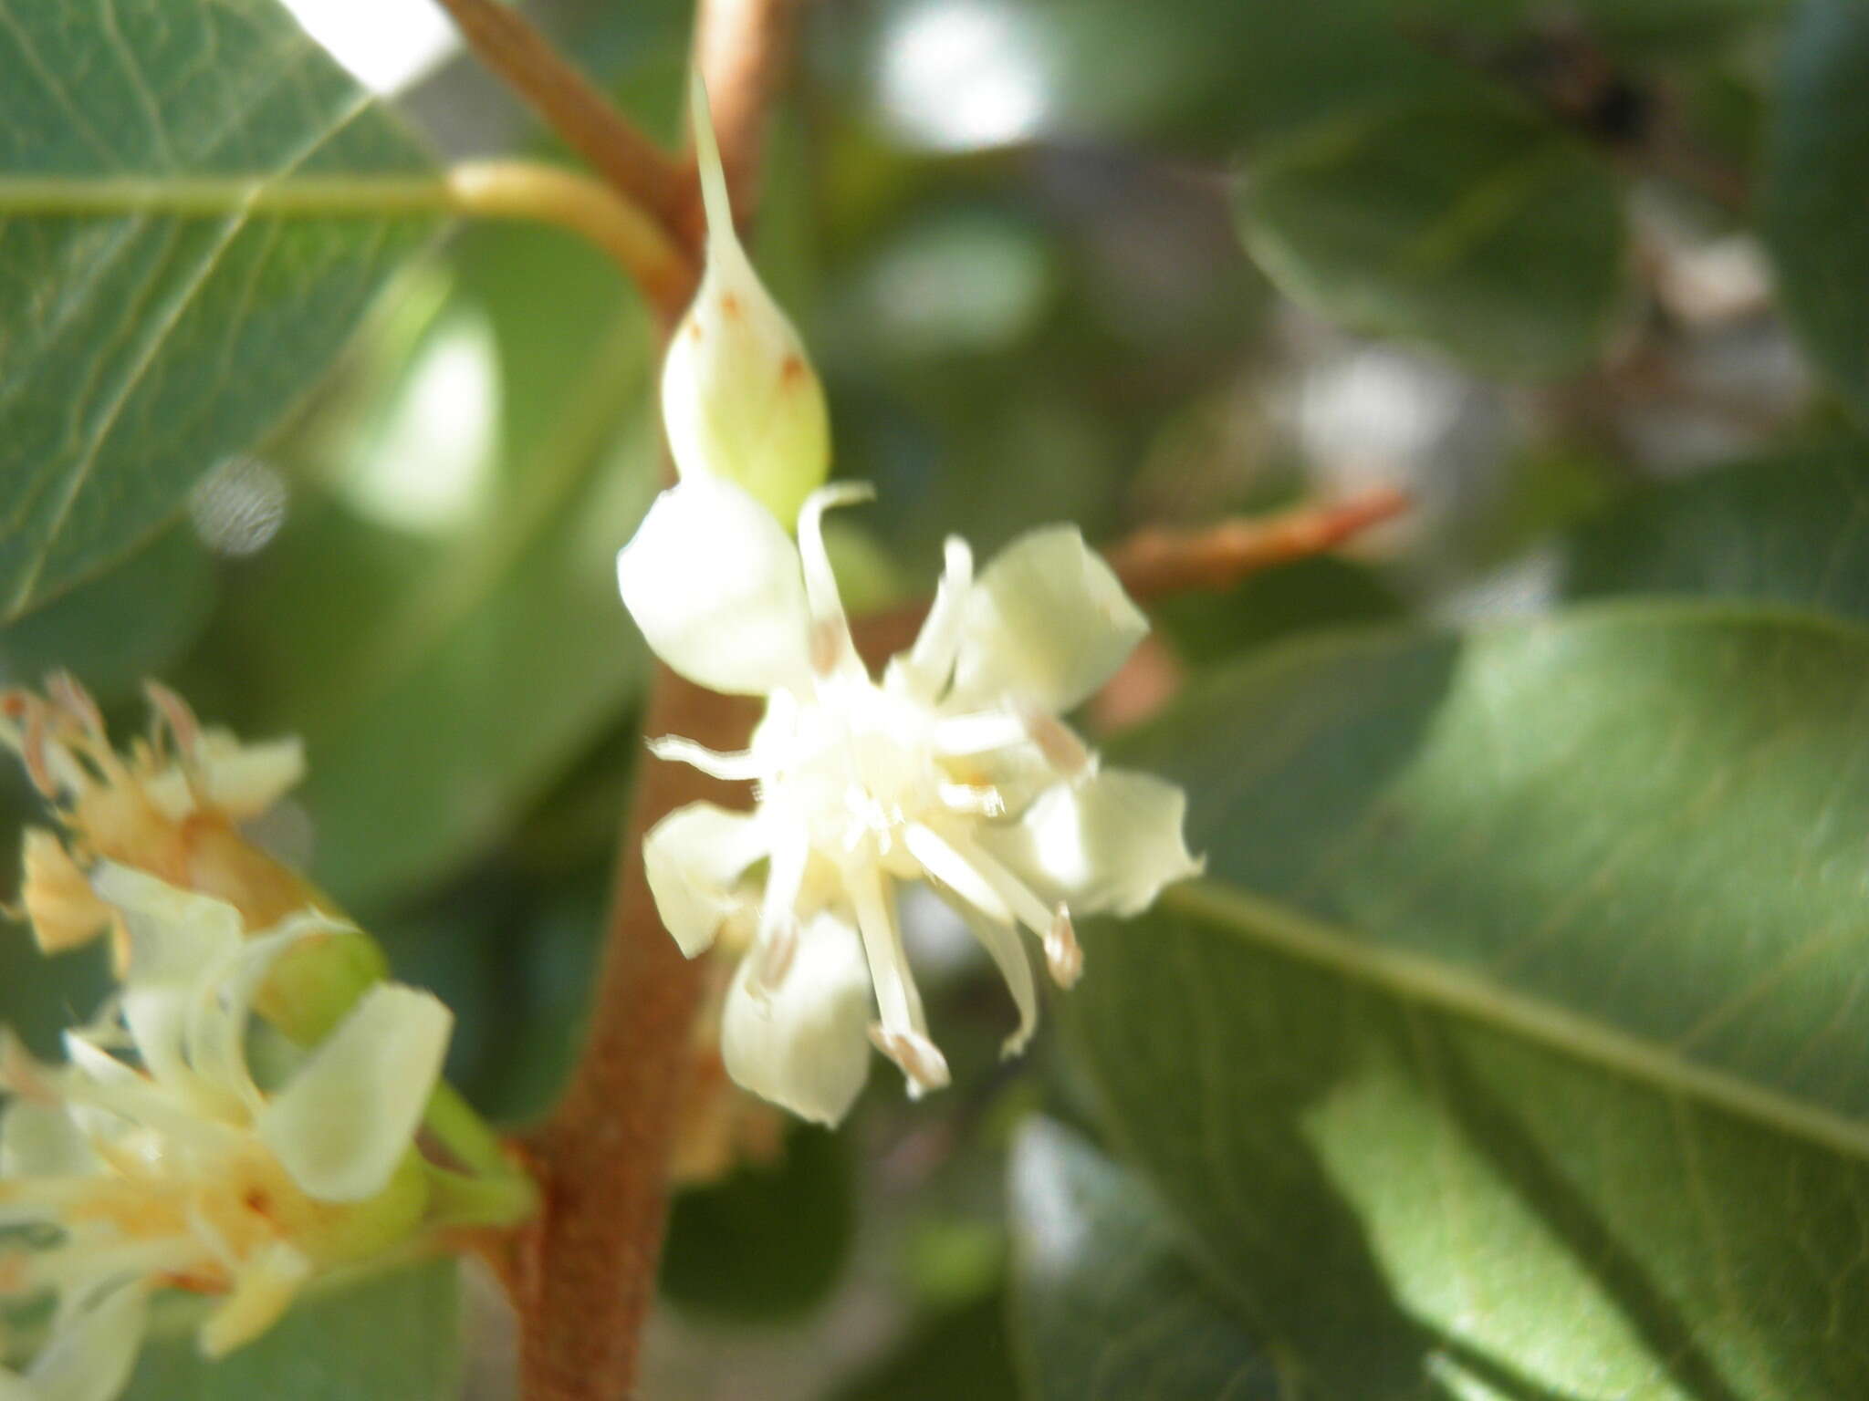
M 706 92 L 693 82 L 706 273 L 662 366 L 662 418 L 682 476 L 723 476 L 791 525 L 830 473 L 824 389 L 733 232 Z

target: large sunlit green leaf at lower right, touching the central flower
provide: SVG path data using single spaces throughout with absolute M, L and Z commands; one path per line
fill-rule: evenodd
M 1286 648 L 1118 757 L 1112 1136 L 1320 1395 L 1869 1392 L 1869 637 L 1706 605 Z

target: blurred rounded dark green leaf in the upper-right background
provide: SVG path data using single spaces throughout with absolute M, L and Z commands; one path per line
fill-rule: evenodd
M 1622 299 L 1607 164 L 1458 73 L 1260 144 L 1239 226 L 1295 301 L 1491 374 L 1589 364 Z

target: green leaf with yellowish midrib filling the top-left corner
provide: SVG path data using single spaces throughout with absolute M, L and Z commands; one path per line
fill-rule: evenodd
M 290 181 L 318 192 L 280 209 Z M 432 232 L 434 189 L 273 0 L 4 0 L 0 618 L 250 448 Z

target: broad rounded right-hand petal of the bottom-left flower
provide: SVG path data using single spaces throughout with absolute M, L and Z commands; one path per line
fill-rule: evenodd
M 378 984 L 265 1106 L 260 1138 L 305 1192 L 363 1201 L 389 1184 L 441 1074 L 452 1024 L 434 996 Z

